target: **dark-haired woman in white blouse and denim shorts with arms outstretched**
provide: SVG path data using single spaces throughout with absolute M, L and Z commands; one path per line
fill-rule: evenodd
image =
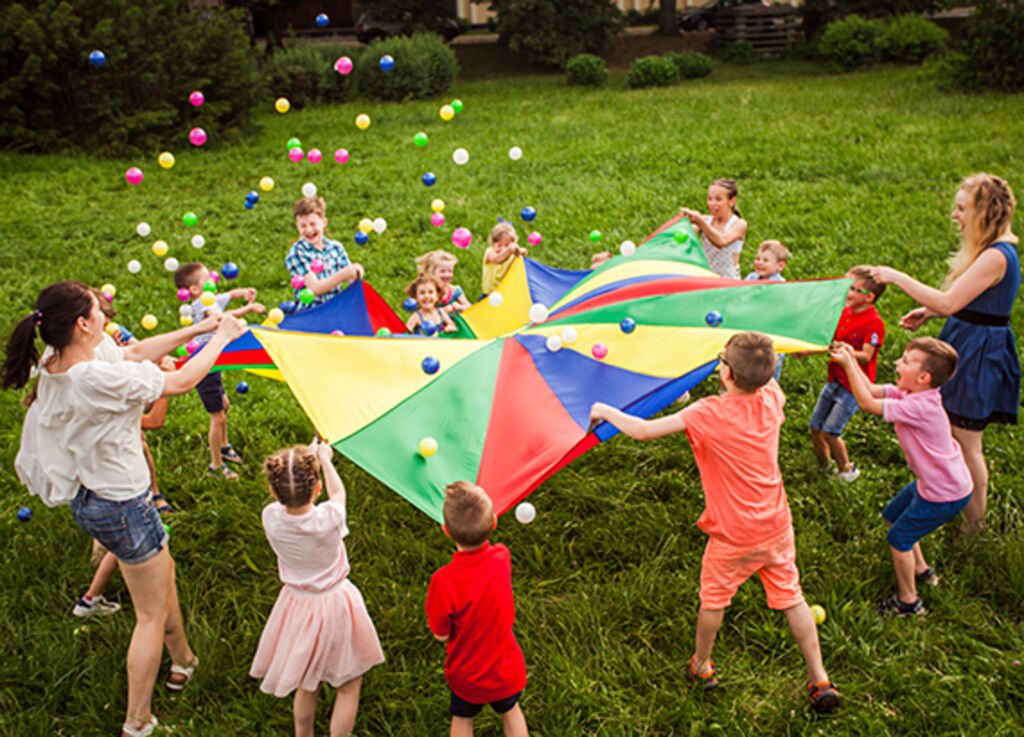
M 198 658 L 188 647 L 174 583 L 167 533 L 153 504 L 150 469 L 139 422 L 144 406 L 162 396 L 184 394 L 210 371 L 244 328 L 233 317 L 211 317 L 191 328 L 155 336 L 100 360 L 103 313 L 79 281 L 50 285 L 36 308 L 7 341 L 4 388 L 25 386 L 39 358 L 36 331 L 52 348 L 39 366 L 36 441 L 51 497 L 71 502 L 79 527 L 114 553 L 135 606 L 128 646 L 128 704 L 122 735 L 146 737 L 157 725 L 153 687 L 166 644 L 171 654 L 167 687 L 180 690 Z M 154 360 L 182 342 L 216 328 L 213 340 L 178 372 L 165 374 Z

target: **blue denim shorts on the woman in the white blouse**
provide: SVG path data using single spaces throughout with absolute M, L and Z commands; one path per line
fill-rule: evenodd
M 153 503 L 152 491 L 146 489 L 126 502 L 110 502 L 80 486 L 71 502 L 71 513 L 78 526 L 119 561 L 145 563 L 160 553 L 169 539 Z

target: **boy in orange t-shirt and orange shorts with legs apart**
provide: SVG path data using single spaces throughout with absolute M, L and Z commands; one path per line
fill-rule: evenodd
M 811 707 L 831 711 L 839 706 L 839 691 L 825 673 L 814 617 L 800 588 L 793 519 L 778 468 L 785 396 L 772 378 L 774 346 L 761 333 L 738 333 L 718 357 L 719 396 L 656 420 L 601 402 L 591 407 L 590 416 L 637 440 L 685 432 L 693 447 L 706 502 L 697 525 L 709 539 L 689 677 L 708 690 L 718 686 L 711 651 L 725 608 L 739 586 L 757 573 L 768 606 L 785 614 L 804 655 Z

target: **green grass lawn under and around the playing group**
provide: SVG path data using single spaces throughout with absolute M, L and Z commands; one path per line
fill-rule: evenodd
M 772 63 L 648 91 L 622 89 L 621 77 L 608 89 L 581 90 L 541 76 L 464 82 L 452 96 L 466 105 L 452 123 L 438 118 L 440 100 L 286 116 L 267 105 L 262 130 L 229 144 L 168 142 L 177 156 L 169 171 L 157 165 L 156 150 L 131 160 L 0 155 L 4 334 L 29 313 L 40 288 L 61 278 L 114 283 L 118 319 L 138 335 L 145 313 L 160 319 L 158 330 L 172 328 L 178 303 L 163 259 L 150 250 L 157 239 L 181 262 L 237 262 L 238 283 L 255 286 L 269 303 L 290 298 L 283 262 L 295 239 L 291 206 L 305 181 L 326 197 L 334 236 L 395 306 L 414 275 L 413 257 L 450 247 L 456 226 L 475 234 L 457 268 L 457 281 L 475 294 L 498 216 L 515 218 L 523 241 L 530 229 L 543 233 L 535 258 L 583 268 L 594 250 L 590 230 L 601 230 L 611 248 L 639 241 L 681 205 L 705 209 L 705 188 L 720 176 L 738 180 L 750 222 L 744 274 L 753 247 L 774 237 L 794 253 L 790 278 L 886 263 L 938 285 L 957 243 L 949 211 L 959 180 L 990 171 L 1024 196 L 1024 97 L 947 95 L 915 71 L 837 77 Z M 353 125 L 362 112 L 373 118 L 366 132 Z M 425 148 L 413 144 L 419 130 L 430 135 Z M 293 135 L 330 163 L 290 163 L 285 142 Z M 521 161 L 509 160 L 512 145 L 522 147 Z M 340 146 L 351 153 L 344 166 L 330 154 Z M 470 153 L 464 167 L 452 162 L 457 146 Z M 123 178 L 133 165 L 145 172 L 137 187 Z M 426 171 L 437 175 L 429 189 L 420 182 Z M 276 187 L 245 210 L 246 191 L 264 175 Z M 447 204 L 442 229 L 428 221 L 437 197 Z M 517 217 L 525 205 L 539 212 L 531 225 Z M 185 211 L 198 214 L 197 227 L 181 224 Z M 358 220 L 378 216 L 387 231 L 354 246 Z M 146 239 L 135 234 L 142 220 L 153 226 Z M 1017 232 L 1022 226 L 1018 217 Z M 202 251 L 188 245 L 196 232 L 206 236 Z M 138 275 L 125 269 L 132 258 L 143 264 Z M 889 326 L 881 380 L 894 378 L 892 361 L 907 340 L 897 322 L 910 307 L 896 291 L 879 304 Z M 1024 335 L 1020 310 L 1013 323 Z M 842 485 L 815 473 L 806 423 L 824 376 L 823 358 L 786 361 L 780 463 L 807 598 L 828 612 L 821 646 L 842 710 L 827 720 L 808 712 L 803 661 L 757 582 L 740 590 L 716 646 L 723 687 L 710 698 L 693 691 L 685 671 L 706 539 L 695 526 L 702 500 L 693 458 L 681 437 L 647 444 L 616 437 L 534 493 L 531 525 L 510 515 L 495 534 L 513 554 L 516 634 L 529 669 L 522 705 L 536 734 L 1022 734 L 1020 431 L 986 434 L 990 532 L 966 541 L 951 530 L 928 538 L 926 555 L 945 581 L 924 594 L 929 615 L 882 620 L 872 602 L 894 578 L 881 510 L 910 474 L 892 429 L 864 416 L 847 433 L 860 480 Z M 243 379 L 249 394 L 229 389 L 230 438 L 246 456 L 242 481 L 205 475 L 207 417 L 194 393 L 172 400 L 167 426 L 150 434 L 161 488 L 180 510 L 171 549 L 202 658 L 193 686 L 179 696 L 161 689 L 154 702 L 182 735 L 291 729 L 290 701 L 261 694 L 247 675 L 280 587 L 259 522 L 267 502 L 259 465 L 307 440 L 311 426 L 284 385 L 241 374 L 226 384 Z M 708 384 L 698 394 L 712 390 Z M 67 508 L 46 509 L 14 476 L 19 398 L 0 394 L 0 734 L 114 734 L 124 714 L 129 598 L 118 577 L 108 596 L 124 612 L 71 616 L 90 576 L 89 543 Z M 357 732 L 444 733 L 443 652 L 426 628 L 423 602 L 452 548 L 396 494 L 343 459 L 338 466 L 349 488 L 352 580 L 388 658 L 365 679 Z M 35 510 L 27 524 L 15 518 L 25 505 Z M 500 734 L 493 713 L 477 723 L 478 734 Z

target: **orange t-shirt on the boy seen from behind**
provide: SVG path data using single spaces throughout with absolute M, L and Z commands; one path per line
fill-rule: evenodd
M 748 547 L 793 525 L 778 469 L 785 395 L 772 385 L 752 394 L 707 397 L 679 413 L 700 471 L 705 511 L 697 526 Z

